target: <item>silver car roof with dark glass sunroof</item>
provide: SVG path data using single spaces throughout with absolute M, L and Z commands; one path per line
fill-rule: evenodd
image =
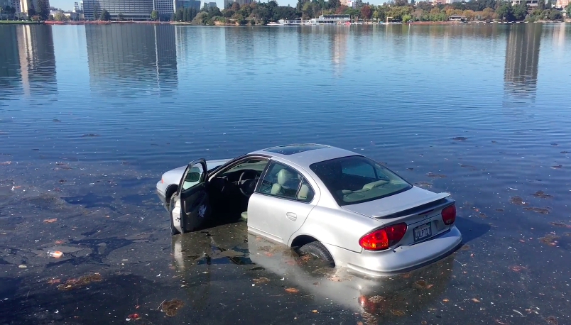
M 272 157 L 288 160 L 291 163 L 305 168 L 309 168 L 313 163 L 320 163 L 325 160 L 358 155 L 349 150 L 317 143 L 279 145 L 277 147 L 257 150 L 250 154 L 271 155 Z

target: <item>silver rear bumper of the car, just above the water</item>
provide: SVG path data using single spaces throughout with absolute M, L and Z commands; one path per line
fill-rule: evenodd
M 430 241 L 393 250 L 363 250 L 355 253 L 337 246 L 325 244 L 335 259 L 335 264 L 372 276 L 386 276 L 407 272 L 440 260 L 453 253 L 462 243 L 462 234 L 452 226 Z

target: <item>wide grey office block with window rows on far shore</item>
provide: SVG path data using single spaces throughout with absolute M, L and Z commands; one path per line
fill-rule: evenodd
M 83 11 L 85 19 L 95 20 L 99 13 L 105 9 L 112 19 L 119 18 L 119 13 L 129 21 L 148 21 L 151 19 L 151 11 L 154 10 L 153 0 L 85 0 Z M 170 17 L 171 11 L 168 16 Z

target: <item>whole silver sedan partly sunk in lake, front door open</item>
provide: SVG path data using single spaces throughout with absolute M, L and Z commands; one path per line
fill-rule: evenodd
M 243 219 L 249 233 L 372 276 L 420 268 L 462 242 L 450 194 L 329 145 L 201 158 L 165 172 L 157 192 L 173 236 Z

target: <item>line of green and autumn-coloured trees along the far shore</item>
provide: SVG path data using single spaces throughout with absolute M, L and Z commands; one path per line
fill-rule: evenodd
M 465 16 L 467 21 L 559 21 L 562 12 L 540 0 L 538 6 L 529 10 L 526 1 L 512 6 L 505 0 L 472 0 L 452 4 L 432 4 L 429 1 L 394 0 L 379 6 L 355 1 L 354 7 L 342 6 L 339 0 L 298 0 L 295 7 L 278 6 L 276 1 L 252 2 L 239 5 L 230 4 L 222 11 L 218 8 L 202 10 L 179 8 L 171 17 L 172 21 L 188 21 L 203 25 L 235 23 L 238 25 L 266 24 L 279 19 L 317 18 L 321 14 L 346 14 L 364 20 L 375 21 L 447 21 L 453 15 Z M 571 16 L 571 5 L 566 8 Z

